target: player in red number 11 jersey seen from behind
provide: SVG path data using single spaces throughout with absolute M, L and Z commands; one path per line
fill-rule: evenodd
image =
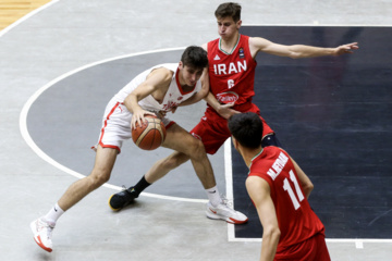
M 246 189 L 259 215 L 264 233 L 260 260 L 329 261 L 324 226 L 310 209 L 308 182 L 295 171 L 289 154 L 258 142 L 262 123 L 253 112 L 229 119 L 233 145 L 249 167 Z

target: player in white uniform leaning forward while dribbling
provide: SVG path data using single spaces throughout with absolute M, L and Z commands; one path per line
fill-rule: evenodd
M 203 83 L 207 73 L 207 52 L 200 47 L 185 49 L 180 63 L 154 66 L 121 89 L 108 103 L 96 160 L 91 173 L 72 184 L 49 212 L 32 222 L 35 241 L 46 251 L 52 251 L 52 231 L 58 219 L 89 192 L 108 182 L 122 142 L 130 139 L 131 128 L 145 121 L 146 114 L 161 117 L 167 128 L 163 147 L 182 152 L 191 158 L 197 176 L 217 214 L 225 219 L 246 222 L 247 217 L 223 203 L 217 189 L 211 164 L 200 140 L 166 117 L 179 105 L 188 105 L 203 99 L 209 91 L 209 84 Z M 150 181 L 143 181 L 147 185 Z M 142 182 L 142 184 L 143 184 Z M 211 192 L 215 191 L 215 192 Z M 112 197 L 115 204 L 115 197 Z

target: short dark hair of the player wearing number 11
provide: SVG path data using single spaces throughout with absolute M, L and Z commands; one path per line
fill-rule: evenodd
M 262 122 L 254 112 L 234 114 L 229 119 L 229 129 L 244 147 L 256 149 L 261 146 Z

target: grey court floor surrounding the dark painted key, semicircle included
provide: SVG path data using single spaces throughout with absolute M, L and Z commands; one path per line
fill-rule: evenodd
M 109 184 L 59 220 L 53 252 L 41 250 L 29 231 L 71 183 L 89 173 L 89 147 L 110 97 L 150 64 L 175 62 L 182 47 L 217 38 L 220 2 L 52 1 L 0 32 L 0 260 L 258 260 L 259 240 L 236 240 L 232 226 L 205 216 L 206 196 L 191 165 L 113 213 L 109 196 L 170 152 L 143 152 L 132 141 Z M 241 3 L 244 24 L 392 25 L 390 0 Z M 189 129 L 204 108 L 183 108 L 173 120 Z M 225 192 L 223 148 L 210 159 Z M 332 260 L 392 257 L 391 240 L 347 238 L 328 247 Z

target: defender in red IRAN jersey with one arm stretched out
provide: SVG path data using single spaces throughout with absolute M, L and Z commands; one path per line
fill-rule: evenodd
M 284 46 L 265 38 L 241 35 L 241 5 L 233 2 L 220 4 L 215 15 L 220 38 L 203 45 L 203 48 L 207 50 L 209 63 L 210 92 L 205 98 L 208 107 L 201 121 L 191 130 L 193 136 L 203 141 L 206 152 L 209 154 L 216 153 L 231 136 L 228 128 L 230 116 L 243 112 L 255 112 L 260 115 L 259 109 L 252 102 L 255 95 L 255 59 L 258 52 L 297 59 L 341 55 L 353 53 L 353 50 L 358 49 L 356 42 L 335 48 L 304 45 Z M 261 146 L 281 147 L 273 130 L 261 116 L 260 119 L 264 123 Z M 140 182 L 152 184 L 188 159 L 184 153 L 173 152 L 158 161 Z M 294 161 L 293 163 L 297 172 L 303 172 Z M 139 187 L 137 184 L 136 186 Z M 309 182 L 306 186 L 310 188 L 313 184 Z M 122 199 L 124 206 L 142 192 L 142 190 L 135 190 L 134 187 L 130 187 L 127 191 L 132 192 L 120 192 L 121 197 L 118 197 L 118 199 Z M 218 189 L 215 187 L 211 189 L 211 192 L 213 191 L 218 192 Z M 209 208 L 206 213 L 207 216 L 212 215 Z

